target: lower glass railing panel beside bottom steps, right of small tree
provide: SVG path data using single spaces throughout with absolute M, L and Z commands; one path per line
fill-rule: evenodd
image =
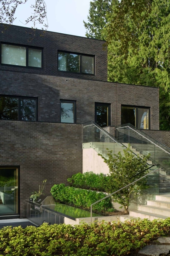
M 157 170 L 156 172 L 151 172 L 144 179 L 146 180 L 146 188 L 138 189 L 139 182 L 136 182 L 136 191 L 133 191 L 130 194 L 129 211 L 137 211 L 137 210 L 142 211 L 142 207 L 146 206 L 149 200 L 155 200 L 156 195 L 159 195 L 159 183 L 160 183 L 159 170 Z M 144 210 L 144 209 L 143 211 L 147 212 L 147 210 Z

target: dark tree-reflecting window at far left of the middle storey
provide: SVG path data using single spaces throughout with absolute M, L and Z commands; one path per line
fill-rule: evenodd
M 0 96 L 0 119 L 37 121 L 37 99 Z

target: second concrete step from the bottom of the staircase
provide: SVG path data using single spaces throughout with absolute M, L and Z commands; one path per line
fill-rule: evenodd
M 150 212 L 153 214 L 159 214 L 159 215 L 170 217 L 170 209 L 167 209 L 167 208 L 160 208 L 160 207 L 155 207 L 150 205 L 139 205 L 138 210 L 142 212 Z

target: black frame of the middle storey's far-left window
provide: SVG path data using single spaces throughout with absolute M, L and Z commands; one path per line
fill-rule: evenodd
M 18 119 L 0 119 L 0 121 L 22 121 L 22 122 L 38 122 L 38 98 L 37 97 L 28 97 L 28 96 L 13 96 L 0 94 L 0 97 L 11 97 L 18 99 Z M 27 121 L 21 119 L 21 99 L 34 99 L 35 100 L 35 121 Z

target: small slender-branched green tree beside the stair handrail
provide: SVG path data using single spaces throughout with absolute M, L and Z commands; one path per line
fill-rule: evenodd
M 136 156 L 134 155 L 133 151 L 130 150 L 130 145 L 128 145 L 128 148 L 124 149 L 123 152 L 125 156 L 122 156 L 121 152 L 118 154 L 112 154 L 112 151 L 109 151 L 109 159 L 106 159 L 99 154 L 109 167 L 111 176 L 108 181 L 108 192 L 110 193 L 121 189 L 122 187 L 132 183 L 148 173 L 148 171 L 143 171 L 148 168 L 147 160 L 149 159 L 150 154 L 147 156 L 143 155 L 142 157 L 139 155 Z M 137 176 L 133 177 L 135 175 Z M 146 188 L 147 178 L 143 178 L 137 183 L 134 183 L 133 185 L 123 189 L 121 192 L 113 195 L 113 200 L 119 204 L 122 204 L 122 207 L 125 208 L 125 212 L 128 212 L 130 194 L 133 193 L 133 196 L 137 197 L 140 191 Z

